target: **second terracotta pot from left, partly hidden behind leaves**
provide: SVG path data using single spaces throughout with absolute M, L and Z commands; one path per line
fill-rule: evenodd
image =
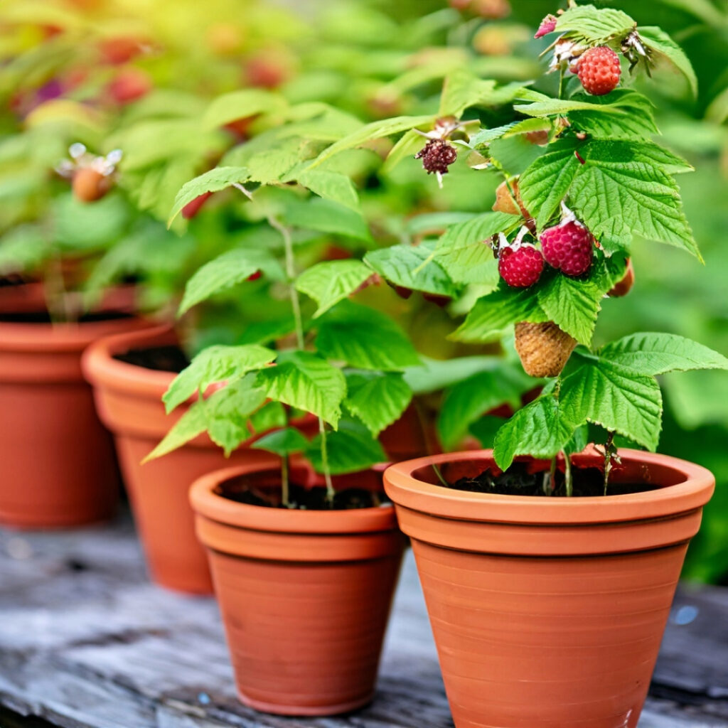
M 212 593 L 207 557 L 194 534 L 189 486 L 200 475 L 231 464 L 275 465 L 277 456 L 245 444 L 226 459 L 207 435 L 142 464 L 186 411 L 165 414 L 162 395 L 175 373 L 154 371 L 114 359 L 131 349 L 176 344 L 168 326 L 96 342 L 84 356 L 84 373 L 94 387 L 98 414 L 114 433 L 124 484 L 130 497 L 151 577 L 159 585 L 191 593 Z

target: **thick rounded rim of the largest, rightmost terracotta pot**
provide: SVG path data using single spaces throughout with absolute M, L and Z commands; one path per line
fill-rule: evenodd
M 715 478 L 706 468 L 657 453 L 620 448 L 625 463 L 659 466 L 684 478 L 652 491 L 615 496 L 539 498 L 473 493 L 419 480 L 416 470 L 433 464 L 483 460 L 493 462 L 492 450 L 431 455 L 391 465 L 384 471 L 384 489 L 397 506 L 460 521 L 499 523 L 616 523 L 661 518 L 702 507 L 708 502 Z

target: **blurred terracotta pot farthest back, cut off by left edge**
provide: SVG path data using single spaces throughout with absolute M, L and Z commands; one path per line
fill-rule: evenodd
M 16 291 L 33 305 L 16 297 L 3 313 L 36 310 L 37 290 Z M 1 523 L 56 528 L 113 515 L 119 496 L 114 447 L 83 379 L 81 355 L 102 336 L 149 325 L 135 317 L 0 321 Z

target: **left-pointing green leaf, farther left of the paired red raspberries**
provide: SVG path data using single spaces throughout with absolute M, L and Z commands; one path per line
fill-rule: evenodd
M 395 285 L 440 296 L 457 296 L 459 288 L 442 266 L 435 261 L 435 243 L 420 245 L 392 245 L 390 248 L 371 250 L 364 262 Z

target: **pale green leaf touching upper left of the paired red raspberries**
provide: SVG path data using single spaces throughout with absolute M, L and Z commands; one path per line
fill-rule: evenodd
M 495 285 L 498 266 L 486 241 L 496 233 L 512 232 L 520 223 L 520 215 L 485 213 L 450 226 L 438 240 L 435 261 L 456 283 Z

